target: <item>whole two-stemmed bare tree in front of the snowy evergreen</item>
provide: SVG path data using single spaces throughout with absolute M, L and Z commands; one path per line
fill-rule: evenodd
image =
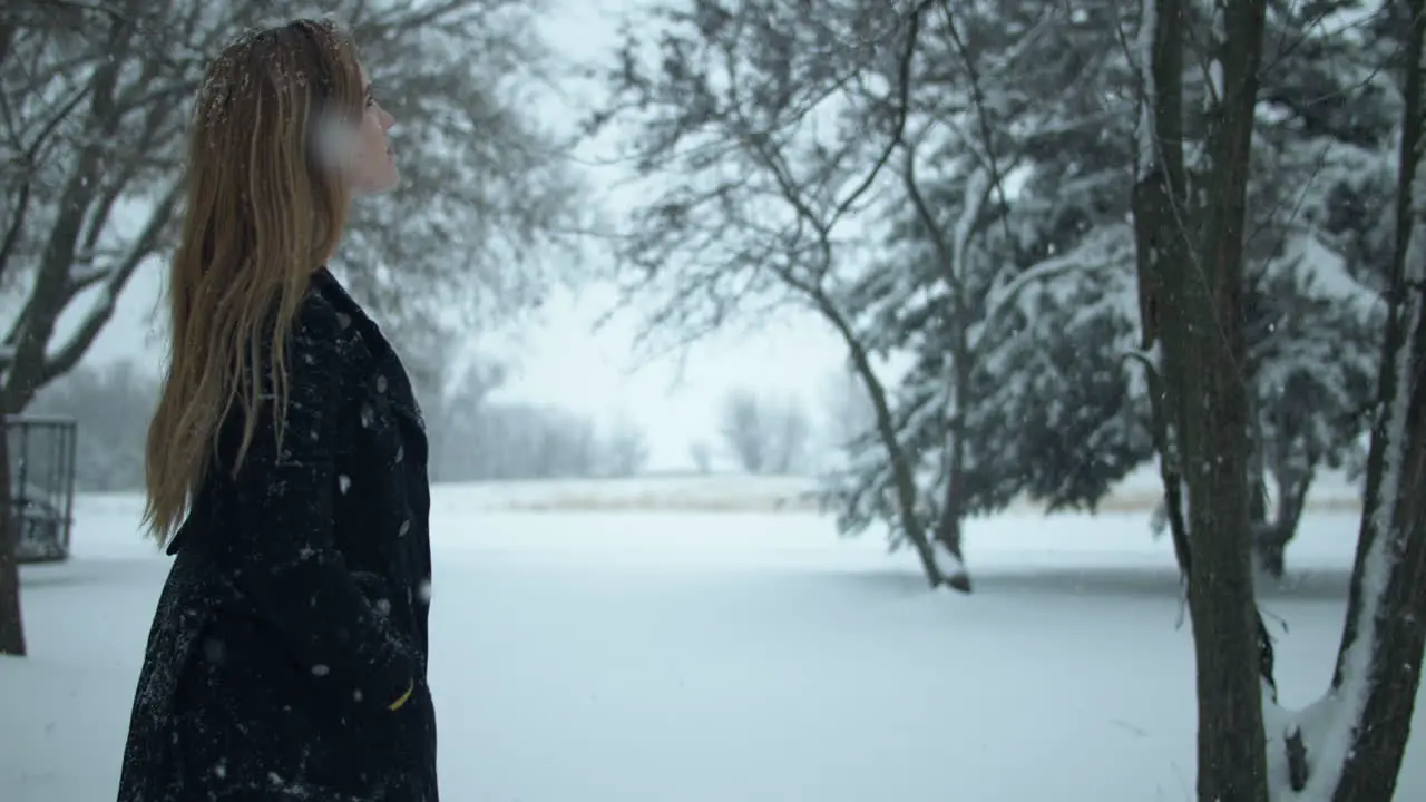
M 630 46 L 613 76 L 609 114 L 635 123 L 632 160 L 660 178 L 620 238 L 630 293 L 662 295 L 653 324 L 689 337 L 780 303 L 820 317 L 873 412 L 824 494 L 838 528 L 888 522 L 933 587 L 968 589 L 961 521 L 984 465 L 968 421 L 998 387 L 978 368 L 1027 288 L 1112 261 L 1112 235 L 1018 248 L 1005 180 L 1071 147 L 1098 160 L 1108 114 L 1055 97 L 1102 71 L 1105 49 L 1064 56 L 1045 31 L 1081 24 L 1044 3 L 838 0 L 811 17 L 793 0 L 683 7 L 659 14 L 656 54 Z M 876 235 L 887 228 L 907 247 L 888 248 Z M 907 352 L 917 387 L 883 362 Z

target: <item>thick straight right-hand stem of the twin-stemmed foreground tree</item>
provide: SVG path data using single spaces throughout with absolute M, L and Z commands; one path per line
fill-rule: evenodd
M 1188 605 L 1198 656 L 1198 796 L 1204 802 L 1266 802 L 1258 604 L 1253 594 L 1248 477 L 1252 442 L 1243 317 L 1243 223 L 1251 167 L 1265 0 L 1235 0 L 1226 37 L 1215 43 L 1224 76 L 1209 113 L 1202 243 L 1181 277 L 1185 313 L 1179 397 L 1192 569 Z M 1192 203 L 1192 201 L 1191 201 Z

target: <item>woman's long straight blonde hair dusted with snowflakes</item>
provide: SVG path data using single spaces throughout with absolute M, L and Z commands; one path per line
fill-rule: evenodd
M 311 274 L 337 247 L 349 201 L 317 140 L 329 116 L 359 118 L 364 94 L 356 49 L 329 21 L 251 31 L 208 66 L 168 275 L 168 367 L 144 465 L 144 524 L 160 542 L 214 468 L 234 404 L 244 430 L 227 468 L 241 467 L 264 400 L 274 402 L 281 441 L 284 342 Z M 270 382 L 260 380 L 264 368 Z

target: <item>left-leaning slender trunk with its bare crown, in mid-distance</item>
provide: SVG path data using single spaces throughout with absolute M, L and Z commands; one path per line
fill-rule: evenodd
M 934 7 L 921 0 L 903 14 L 838 0 L 809 16 L 801 3 L 740 0 L 660 9 L 657 66 L 649 74 L 645 43 L 626 41 L 609 76 L 612 101 L 592 127 L 632 124 L 630 158 L 657 178 L 617 235 L 626 297 L 656 305 L 649 330 L 697 337 L 786 303 L 819 315 L 871 397 L 900 537 L 933 588 L 968 589 L 960 569 L 937 561 L 877 355 L 846 298 L 864 243 L 847 223 L 886 188 L 923 17 Z M 883 70 L 888 59 L 897 66 Z M 867 108 L 847 87 L 873 71 L 896 80 Z M 857 114 L 829 114 L 829 98 Z M 888 121 L 868 126 L 867 116 Z

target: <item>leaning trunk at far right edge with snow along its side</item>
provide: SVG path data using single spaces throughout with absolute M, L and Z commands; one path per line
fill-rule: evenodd
M 1372 432 L 1352 595 L 1332 678 L 1345 731 L 1326 745 L 1330 752 L 1316 756 L 1316 771 L 1328 776 L 1309 778 L 1330 788 L 1333 802 L 1395 796 L 1426 649 L 1426 1 L 1410 0 L 1409 7 L 1390 318 L 1378 384 L 1382 412 Z

